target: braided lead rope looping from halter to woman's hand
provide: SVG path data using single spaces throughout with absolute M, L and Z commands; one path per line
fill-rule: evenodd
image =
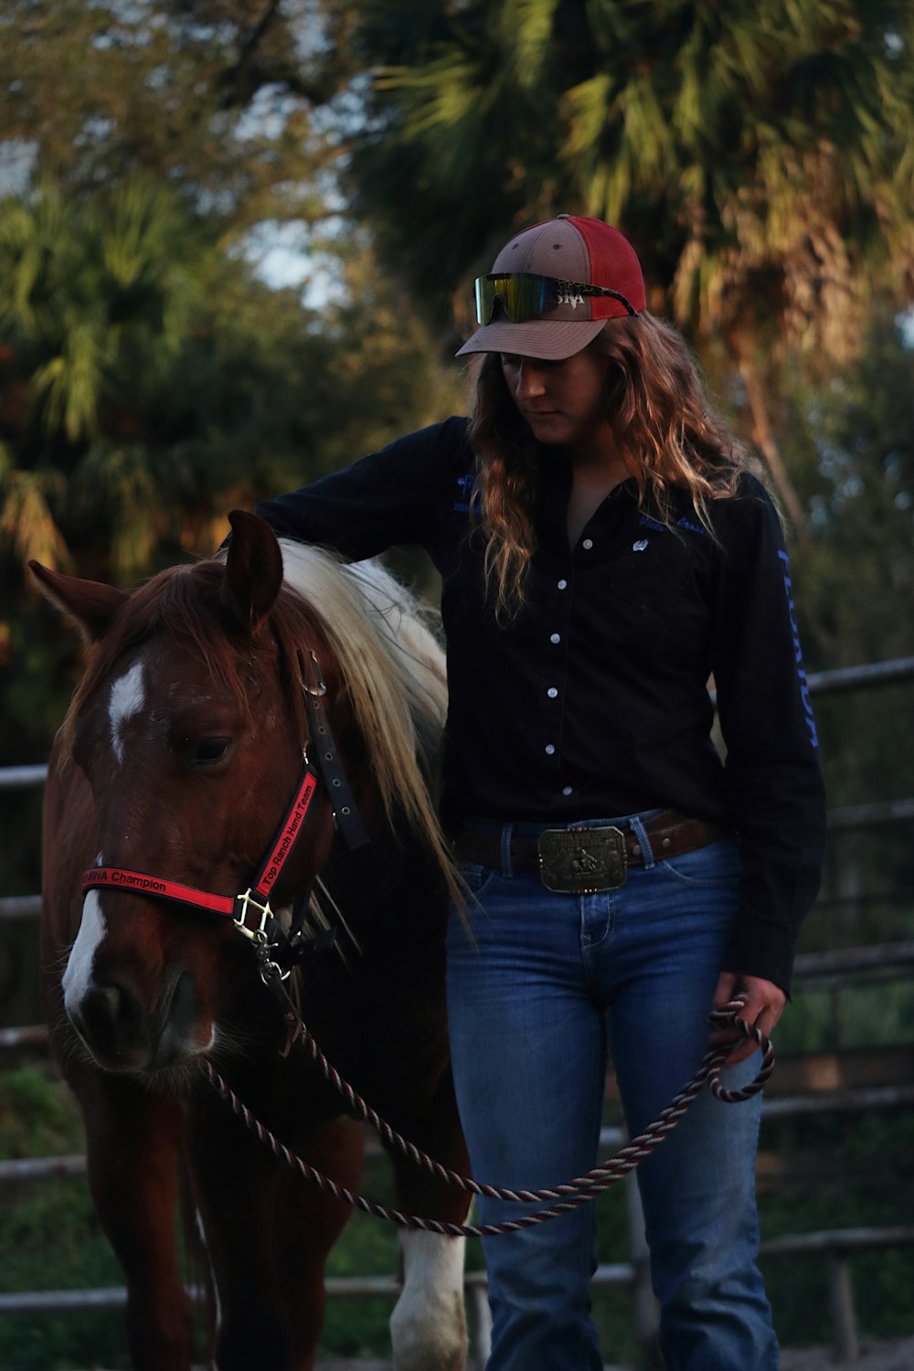
M 629 1174 L 629 1171 L 633 1171 L 634 1167 L 644 1160 L 644 1157 L 654 1152 L 663 1138 L 666 1138 L 666 1135 L 676 1127 L 706 1083 L 711 1090 L 711 1094 L 714 1094 L 715 1098 L 721 1100 L 724 1104 L 739 1104 L 740 1101 L 748 1100 L 751 1095 L 756 1094 L 774 1069 L 774 1052 L 761 1030 L 747 1024 L 744 1019 L 739 1017 L 737 1010 L 741 1005 L 743 1001 L 737 998 L 730 1001 L 730 1004 L 725 1005 L 722 1009 L 713 1010 L 708 1015 L 708 1023 L 711 1023 L 715 1028 L 739 1027 L 740 1032 L 745 1038 L 754 1039 L 762 1047 L 762 1065 L 754 1080 L 740 1090 L 724 1090 L 719 1083 L 719 1076 L 724 1063 L 732 1050 L 732 1045 L 726 1043 L 719 1047 L 710 1047 L 692 1079 L 687 1082 L 677 1095 L 674 1095 L 666 1109 L 658 1115 L 655 1121 L 650 1124 L 644 1132 L 632 1138 L 630 1142 L 626 1143 L 626 1146 L 623 1146 L 614 1157 L 610 1157 L 607 1161 L 595 1167 L 592 1171 L 588 1171 L 585 1175 L 577 1176 L 574 1180 L 563 1185 L 543 1190 L 508 1190 L 499 1186 L 488 1186 L 482 1182 L 473 1180 L 470 1176 L 462 1176 L 459 1172 L 451 1171 L 449 1167 L 445 1167 L 440 1161 L 434 1161 L 425 1152 L 421 1152 L 414 1143 L 408 1142 L 399 1132 L 396 1132 L 395 1128 L 381 1119 L 381 1116 L 371 1109 L 359 1094 L 356 1094 L 356 1091 L 340 1076 L 336 1068 L 323 1056 L 308 1030 L 303 1027 L 303 1043 L 308 1049 L 312 1060 L 321 1068 L 325 1078 L 336 1087 L 355 1113 L 358 1113 L 365 1121 L 371 1123 L 382 1138 L 396 1146 L 417 1165 L 432 1172 L 440 1180 L 454 1185 L 458 1189 L 469 1191 L 474 1196 L 485 1196 L 488 1198 L 506 1200 L 517 1204 L 530 1204 L 543 1200 L 562 1201 L 559 1204 L 549 1205 L 547 1209 L 540 1209 L 537 1213 L 528 1215 L 522 1219 L 507 1220 L 504 1223 L 469 1224 L 423 1219 L 418 1215 L 407 1215 L 399 1209 L 391 1209 L 386 1205 L 367 1200 L 365 1196 L 355 1194 L 345 1186 L 337 1185 L 336 1180 L 332 1180 L 329 1176 L 317 1171 L 310 1165 L 310 1163 L 304 1161 L 303 1157 L 299 1157 L 289 1148 L 286 1148 L 285 1143 L 280 1142 L 280 1139 L 251 1113 L 243 1101 L 238 1100 L 236 1093 L 210 1061 L 204 1061 L 203 1068 L 210 1083 L 219 1093 L 219 1095 L 222 1095 L 229 1108 L 237 1115 L 244 1126 L 260 1142 L 263 1142 L 264 1146 L 270 1148 L 274 1156 L 285 1161 L 293 1171 L 297 1171 L 303 1179 L 317 1185 L 325 1191 L 325 1194 L 330 1194 L 337 1200 L 343 1200 L 352 1208 L 362 1209 L 365 1213 L 370 1213 L 378 1219 L 386 1219 L 389 1223 L 395 1223 L 404 1228 L 421 1228 L 426 1233 L 440 1233 L 448 1237 L 485 1238 L 495 1237 L 502 1233 L 514 1233 L 518 1228 L 529 1228 L 537 1223 L 545 1223 L 548 1219 L 555 1219 L 559 1215 L 567 1213 L 569 1211 L 577 1209 L 580 1205 L 595 1200 L 600 1191 L 615 1185 L 617 1180 L 621 1180 Z

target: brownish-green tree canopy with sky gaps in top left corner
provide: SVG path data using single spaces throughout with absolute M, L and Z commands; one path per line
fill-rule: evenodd
M 0 126 L 67 189 L 136 171 L 192 188 L 223 234 L 325 215 L 341 80 L 314 0 L 7 0 Z

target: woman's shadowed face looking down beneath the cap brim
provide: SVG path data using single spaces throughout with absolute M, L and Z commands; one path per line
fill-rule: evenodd
M 502 354 L 504 384 L 536 440 L 571 448 L 602 448 L 610 440 L 610 367 L 592 347 L 562 362 Z

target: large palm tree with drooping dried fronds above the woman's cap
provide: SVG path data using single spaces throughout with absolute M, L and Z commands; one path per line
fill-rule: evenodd
M 654 311 L 724 340 L 804 537 L 766 388 L 785 358 L 844 365 L 873 298 L 911 299 L 906 0 L 359 8 L 378 75 L 354 185 L 389 260 L 443 308 L 515 228 L 617 223 Z

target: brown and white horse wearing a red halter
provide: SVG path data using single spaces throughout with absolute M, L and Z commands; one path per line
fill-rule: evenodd
M 148 1371 L 190 1367 L 175 1254 L 185 1174 L 212 1274 L 215 1364 L 304 1371 L 314 1360 L 325 1259 L 347 1209 L 282 1168 L 200 1069 L 212 1061 L 288 1146 L 356 1185 L 362 1126 L 301 1049 L 281 1054 L 259 942 L 221 916 L 244 913 L 233 899 L 300 798 L 303 750 L 314 768 L 307 817 L 271 868 L 271 927 L 297 927 L 291 910 L 317 875 L 347 946 L 306 951 L 293 972 L 301 1015 L 393 1127 L 466 1167 L 444 1017 L 447 849 L 428 784 L 444 713 L 440 648 L 381 569 L 281 548 L 251 514 L 232 524 L 227 559 L 171 568 L 132 595 L 34 566 L 93 644 L 49 768 L 45 1010 L 126 1275 L 133 1363 Z M 311 736 L 308 692 L 322 696 L 329 742 Z M 355 799 L 344 808 L 358 806 L 371 839 L 352 851 L 334 835 L 340 781 L 317 768 L 328 747 Z M 159 898 L 186 887 L 212 909 Z M 397 1157 L 393 1168 L 403 1209 L 463 1219 L 459 1191 Z M 454 1371 L 466 1356 L 462 1239 L 404 1233 L 402 1248 L 395 1366 Z

